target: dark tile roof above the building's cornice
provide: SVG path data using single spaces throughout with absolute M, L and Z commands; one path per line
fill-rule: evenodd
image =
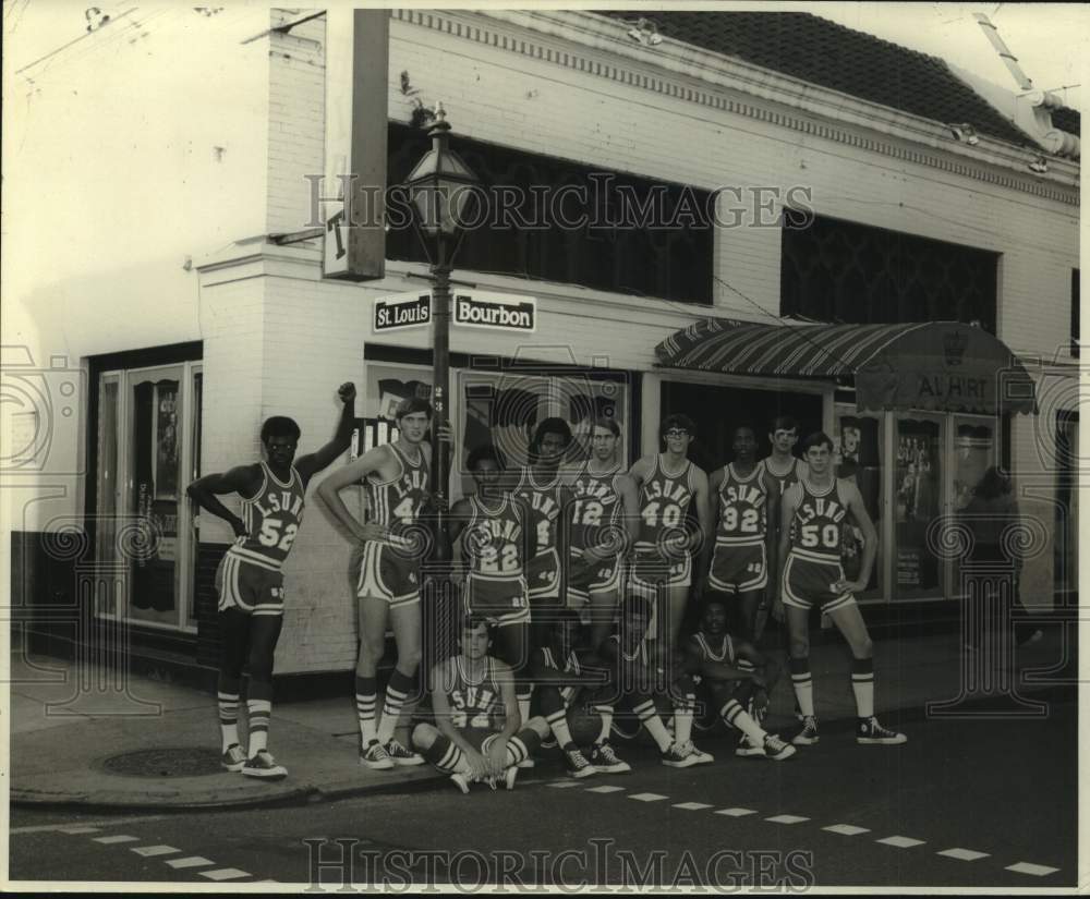
M 937 122 L 969 122 L 979 134 L 1033 146 L 1028 135 L 958 78 L 943 60 L 827 19 L 802 12 L 644 10 L 601 14 L 626 22 L 647 19 L 663 37 Z M 1058 121 L 1064 118 L 1058 112 L 1053 116 L 1056 126 L 1067 131 Z

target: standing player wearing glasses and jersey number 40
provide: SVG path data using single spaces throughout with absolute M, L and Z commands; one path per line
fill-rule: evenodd
M 697 426 L 686 415 L 669 415 L 658 428 L 663 452 L 640 459 L 629 473 L 639 490 L 638 536 L 630 591 L 655 602 L 657 651 L 673 648 L 681 630 L 692 582 L 690 551 L 712 534 L 707 475 L 689 461 Z M 689 534 L 686 518 L 694 507 L 700 529 Z M 659 590 L 665 608 L 658 611 Z

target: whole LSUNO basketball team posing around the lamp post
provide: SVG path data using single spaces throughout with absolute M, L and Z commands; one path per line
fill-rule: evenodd
M 268 746 L 281 569 L 308 483 L 349 448 L 355 387 L 342 385 L 339 397 L 337 434 L 317 451 L 296 458 L 298 424 L 274 416 L 262 426 L 264 459 L 205 475 L 187 490 L 235 535 L 216 573 L 218 707 L 222 765 L 247 777 L 288 774 Z M 662 764 L 685 768 L 714 761 L 692 740 L 698 709 L 738 733 L 737 755 L 789 758 L 820 739 L 809 664 L 813 609 L 851 652 L 856 742 L 906 742 L 874 715 L 873 647 L 855 594 L 870 580 L 877 535 L 855 482 L 836 477 L 827 435 L 800 435 L 788 416 L 762 423 L 764 432 L 738 424 L 732 461 L 705 472 L 688 458 L 695 425 L 675 414 L 662 422 L 657 451 L 626 470 L 620 429 L 602 417 L 573 470 L 568 423 L 545 418 L 533 428 L 525 465 L 508 470 L 500 447 L 470 452 L 475 490 L 437 517 L 425 439 L 432 417 L 427 400 L 404 400 L 393 442 L 317 486 L 353 545 L 361 765 L 431 763 L 462 792 L 474 782 L 512 789 L 520 768 L 555 748 L 571 777 L 621 774 L 631 766 L 610 737 L 622 720 L 646 731 Z M 772 451 L 758 459 L 762 433 Z M 451 441 L 445 425 L 436 436 Z M 352 499 L 359 490 L 362 502 Z M 231 494 L 241 515 L 220 500 Z M 453 550 L 438 569 L 436 521 L 438 538 Z M 853 580 L 841 564 L 849 527 L 862 535 Z M 421 602 L 437 571 L 458 597 L 457 615 L 443 622 L 429 620 L 439 604 Z M 762 726 L 780 673 L 758 648 L 768 615 L 785 633 L 796 701 L 796 732 L 785 738 Z M 441 631 L 448 620 L 456 620 L 451 655 L 419 671 L 425 628 Z M 397 661 L 379 702 L 390 631 Z

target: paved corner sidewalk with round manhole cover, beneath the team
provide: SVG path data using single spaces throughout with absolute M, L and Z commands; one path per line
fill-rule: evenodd
M 1061 660 L 1059 653 L 1059 634 L 1049 628 L 1044 640 L 1019 651 L 1019 665 L 1047 668 Z M 893 722 L 899 710 L 958 695 L 962 653 L 957 634 L 881 641 L 874 654 L 877 713 Z M 813 647 L 811 669 L 823 730 L 837 720 L 847 726 L 856 714 L 847 647 Z M 219 767 L 211 695 L 141 677 L 131 677 L 125 690 L 112 672 L 81 671 L 71 661 L 45 656 L 13 657 L 11 678 L 11 795 L 16 803 L 227 807 L 402 792 L 445 781 L 429 765 L 362 768 L 350 696 L 274 705 L 269 743 L 289 777 L 267 782 Z M 773 693 L 771 730 L 788 733 L 795 727 L 789 684 L 785 672 Z M 724 754 L 732 746 L 726 739 L 701 742 Z M 559 774 L 559 763 L 542 755 L 537 770 Z

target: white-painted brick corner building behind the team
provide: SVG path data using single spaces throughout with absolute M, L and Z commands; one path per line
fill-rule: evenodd
M 536 323 L 530 333 L 452 327 L 460 453 L 493 439 L 517 457 L 526 416 L 566 416 L 578 436 L 605 411 L 631 463 L 658 448 L 664 415 L 685 412 L 711 467 L 727 461 L 734 425 L 763 433 L 791 414 L 835 436 L 841 474 L 864 491 L 882 545 L 862 602 L 877 619 L 956 617 L 957 569 L 929 527 L 1001 463 L 1038 523 L 1024 595 L 1063 602 L 1076 576 L 1077 160 L 1050 156 L 1046 172 L 1030 171 L 1031 135 L 953 73 L 936 75 L 937 61 L 800 15 L 776 26 L 778 59 L 797 56 L 791 41 L 827 59 L 815 48 L 829 40 L 862 48 L 862 62 L 855 74 L 816 62 L 784 71 L 749 52 L 775 14 L 731 15 L 640 25 L 571 11 L 391 12 L 387 121 L 375 123 L 387 129 L 390 183 L 426 144 L 412 125 L 417 100 L 441 100 L 456 148 L 491 184 L 622 184 L 639 203 L 665 185 L 670 219 L 622 233 L 608 227 L 616 197 L 603 210 L 591 191 L 583 211 L 604 216 L 601 228 L 467 235 L 455 278 L 470 287 L 456 293 L 533 297 Z M 147 206 L 157 221 L 145 228 L 130 196 L 104 224 L 141 245 L 138 277 L 121 265 L 75 275 L 28 315 L 39 337 L 17 374 L 48 380 L 53 405 L 71 412 L 53 417 L 34 472 L 12 470 L 13 593 L 28 627 L 56 637 L 93 604 L 96 619 L 128 622 L 134 646 L 197 666 L 215 664 L 211 575 L 231 535 L 195 519 L 184 485 L 257 458 L 271 414 L 300 423 L 301 452 L 328 439 L 346 380 L 360 389 L 358 449 L 388 439 L 391 405 L 431 379 L 429 330 L 376 330 L 372 315 L 377 300 L 427 290 L 410 232 L 388 235 L 380 280 L 323 278 L 313 175 L 324 170 L 324 17 L 280 11 L 230 26 L 207 33 L 219 68 L 193 102 L 190 153 L 166 159 L 169 186 Z M 243 44 L 247 28 L 255 39 Z M 123 64 L 146 75 L 159 63 Z M 870 83 L 889 65 L 898 93 L 875 96 Z M 952 120 L 973 121 L 979 138 L 955 141 Z M 162 201 L 183 205 L 179 229 Z M 983 332 L 1028 373 L 1036 411 L 997 414 L 962 397 L 861 409 L 850 376 L 674 365 L 664 342 L 707 318 L 783 328 L 784 339 L 812 320 L 950 321 L 934 357 Z M 453 494 L 467 487 L 456 472 Z M 278 673 L 354 664 L 349 552 L 313 500 L 286 567 Z

